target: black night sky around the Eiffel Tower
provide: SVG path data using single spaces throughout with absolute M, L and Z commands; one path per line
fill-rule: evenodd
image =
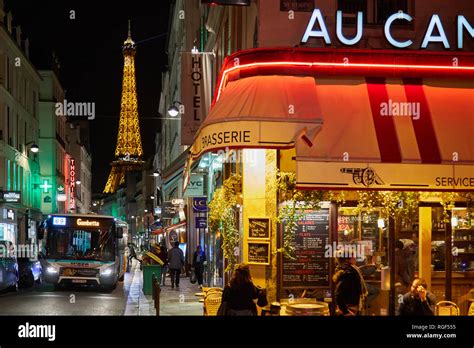
M 51 69 L 55 51 L 66 99 L 95 102 L 90 122 L 92 190 L 102 192 L 113 160 L 120 113 L 123 56 L 128 19 L 137 43 L 138 112 L 147 159 L 154 152 L 159 128 L 161 73 L 166 69 L 166 33 L 170 0 L 6 0 L 22 38 L 30 40 L 30 59 L 37 69 Z M 75 10 L 76 19 L 70 19 Z M 157 37 L 158 36 L 158 37 Z M 140 41 L 142 41 L 140 43 Z

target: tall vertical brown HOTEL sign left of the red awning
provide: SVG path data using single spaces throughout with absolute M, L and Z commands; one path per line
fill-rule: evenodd
M 211 53 L 181 55 L 181 145 L 193 144 L 211 106 L 212 57 Z

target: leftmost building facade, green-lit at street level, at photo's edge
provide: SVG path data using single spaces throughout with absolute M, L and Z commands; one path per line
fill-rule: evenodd
M 0 2 L 0 186 L 3 190 L 0 239 L 35 241 L 40 214 L 37 154 L 41 77 L 30 62 L 28 39 L 13 28 Z

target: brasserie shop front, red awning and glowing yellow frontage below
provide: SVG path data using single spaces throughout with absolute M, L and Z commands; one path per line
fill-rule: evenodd
M 249 263 L 271 300 L 331 302 L 334 251 L 353 248 L 369 314 L 394 315 L 415 277 L 465 312 L 474 288 L 473 88 L 474 55 L 462 52 L 228 57 L 187 164 L 225 158 L 233 218 L 213 224 L 212 198 L 209 226 L 224 234 L 226 265 Z

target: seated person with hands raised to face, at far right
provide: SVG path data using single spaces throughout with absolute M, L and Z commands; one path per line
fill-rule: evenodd
M 431 316 L 434 315 L 436 297 L 427 291 L 428 285 L 422 278 L 416 278 L 411 284 L 410 291 L 403 295 L 398 314 L 402 316 Z

